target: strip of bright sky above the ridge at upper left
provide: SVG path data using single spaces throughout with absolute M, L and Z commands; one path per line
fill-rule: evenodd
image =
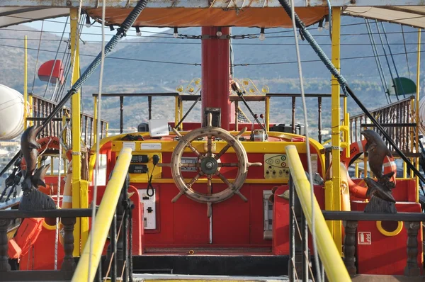
M 84 15 L 84 20 L 85 20 L 85 15 Z M 49 20 L 45 20 L 43 21 L 35 21 L 33 23 L 24 23 L 24 26 L 30 26 L 31 28 L 36 28 L 38 30 L 43 30 L 43 32 L 49 32 L 49 31 L 55 31 L 55 32 L 60 32 L 62 33 L 62 31 L 64 30 L 64 24 L 66 23 L 67 18 L 66 17 L 62 17 L 62 18 L 52 18 Z M 57 23 L 60 22 L 60 23 Z M 93 20 L 91 21 L 93 22 Z M 170 32 L 169 28 L 141 28 L 142 31 L 142 35 L 143 36 L 148 36 L 148 35 L 154 35 L 154 33 L 165 33 L 165 32 Z M 69 33 L 69 21 L 67 24 L 67 28 L 66 28 L 66 32 Z M 151 33 L 149 33 L 151 32 Z M 152 33 L 153 32 L 153 33 Z M 58 35 L 60 35 L 60 33 L 57 33 Z M 81 35 L 81 40 L 101 40 L 101 24 L 100 23 L 94 23 L 93 26 L 91 26 L 90 28 L 86 28 L 84 27 L 84 31 L 83 33 L 97 33 L 98 35 Z M 115 35 L 117 33 L 117 30 L 113 30 L 111 31 L 109 28 L 105 28 L 105 35 Z M 136 35 L 136 30 L 135 28 L 131 28 L 128 31 L 128 35 Z M 108 41 L 108 39 L 110 39 L 111 36 L 106 36 L 106 41 Z M 123 40 L 125 40 L 126 38 L 123 38 Z

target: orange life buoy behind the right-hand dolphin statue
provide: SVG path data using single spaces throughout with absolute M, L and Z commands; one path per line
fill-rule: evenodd
M 358 157 L 359 154 L 363 154 L 365 152 L 365 145 L 368 142 L 366 140 L 361 140 L 357 142 L 353 142 L 350 145 L 350 157 L 346 157 L 346 149 L 344 149 L 341 152 L 341 163 L 344 164 L 346 169 L 351 165 L 351 162 L 353 159 Z M 395 165 L 394 158 L 386 156 L 384 158 L 384 174 L 390 174 L 391 172 L 394 172 L 394 175 L 391 177 L 390 181 L 395 184 L 395 177 L 397 174 L 397 166 Z M 365 185 L 364 181 L 361 181 L 360 184 L 355 184 L 354 181 L 351 180 L 351 177 L 347 173 L 347 181 L 348 181 L 348 188 L 350 189 L 351 195 L 357 197 L 357 198 L 367 198 L 366 192 L 368 191 L 368 187 Z M 363 184 L 364 186 L 362 186 Z

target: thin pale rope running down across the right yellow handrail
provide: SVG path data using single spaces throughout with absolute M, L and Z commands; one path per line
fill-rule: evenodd
M 279 0 L 282 1 L 282 0 Z M 286 2 L 286 0 L 283 0 Z M 288 3 L 288 2 L 286 2 Z M 298 62 L 298 74 L 300 76 L 300 89 L 301 89 L 301 100 L 302 100 L 302 109 L 304 111 L 304 124 L 305 124 L 305 145 L 307 149 L 307 156 L 310 156 L 310 138 L 308 134 L 308 119 L 307 119 L 307 103 L 305 103 L 305 92 L 304 92 L 304 80 L 302 79 L 302 67 L 301 67 L 301 56 L 300 56 L 300 46 L 298 45 L 298 37 L 297 37 L 297 28 L 295 24 L 295 9 L 294 9 L 294 0 L 291 0 L 291 18 L 293 22 L 293 30 L 294 30 L 294 38 L 295 38 L 295 50 L 297 52 L 297 62 Z M 286 10 L 286 9 L 285 9 Z M 345 88 L 345 87 L 344 87 Z M 312 175 L 312 161 L 310 157 L 307 157 L 307 171 L 308 178 L 310 181 L 310 190 L 311 190 L 311 201 L 312 201 L 312 242 L 314 248 L 314 264 L 317 273 L 319 273 L 319 255 L 317 254 L 317 242 L 316 242 L 316 229 L 314 224 L 314 186 L 313 186 L 313 175 Z M 296 222 L 296 220 L 295 220 Z M 308 259 L 307 259 L 308 260 Z M 317 281 L 321 281 L 320 276 L 317 276 Z

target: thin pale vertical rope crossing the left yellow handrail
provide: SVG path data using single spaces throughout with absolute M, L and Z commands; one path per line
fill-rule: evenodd
M 100 156 L 100 145 L 101 142 L 101 106 L 102 106 L 102 83 L 103 83 L 103 67 L 105 64 L 105 14 L 106 14 L 106 0 L 103 0 L 102 3 L 102 52 L 101 52 L 101 69 L 99 74 L 99 90 L 98 90 L 98 98 L 97 98 L 97 127 L 96 127 L 96 169 L 94 171 L 94 191 L 93 191 L 93 198 L 97 198 L 97 191 L 98 191 L 98 175 L 99 175 L 99 169 L 100 169 L 100 162 L 101 162 L 101 156 Z M 96 201 L 94 201 L 93 208 L 91 210 L 91 234 L 94 234 L 94 225 L 96 220 Z M 124 221 L 124 220 L 123 220 Z M 122 222 L 121 222 L 122 223 Z M 119 233 L 118 233 L 119 234 Z M 90 281 L 90 271 L 91 271 L 91 254 L 93 253 L 93 245 L 94 245 L 94 236 L 90 237 L 90 256 L 89 256 L 89 276 L 88 282 Z

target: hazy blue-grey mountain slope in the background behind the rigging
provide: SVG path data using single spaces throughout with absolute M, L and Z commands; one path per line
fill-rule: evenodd
M 387 98 L 382 90 L 382 84 L 378 73 L 378 67 L 373 57 L 373 49 L 370 45 L 368 32 L 360 18 L 342 17 L 341 27 L 341 73 L 348 80 L 351 88 L 357 96 L 369 108 L 376 108 L 387 104 Z M 397 66 L 400 77 L 410 77 L 416 81 L 416 29 L 404 27 L 404 38 L 401 26 L 385 23 L 385 35 L 377 33 L 375 23 L 372 23 L 375 33 L 374 39 L 380 55 L 383 55 L 382 47 L 385 47 L 387 55 L 386 39 L 390 43 L 393 59 Z M 382 32 L 382 26 L 379 25 Z M 33 89 L 33 77 L 35 63 L 37 62 L 37 50 L 40 33 L 32 31 L 28 27 L 16 26 L 0 30 L 0 51 L 5 54 L 0 58 L 1 84 L 11 86 L 18 91 L 23 89 L 23 50 L 22 40 L 6 38 L 23 38 L 28 35 L 28 90 Z M 329 30 L 319 32 L 317 26 L 310 27 L 314 38 L 330 57 L 331 40 Z M 84 28 L 83 33 L 99 33 L 100 30 Z M 200 28 L 180 28 L 179 33 L 184 35 L 200 35 Z M 145 33 L 144 33 L 145 34 Z M 258 28 L 232 28 L 232 35 L 259 35 Z M 130 33 L 129 33 L 130 35 Z M 67 40 L 67 33 L 63 40 Z M 53 60 L 60 40 L 60 34 L 43 33 L 40 43 L 38 67 L 46 60 Z M 406 45 L 404 45 L 404 42 Z M 422 44 L 424 39 L 422 40 Z M 234 39 L 234 77 L 239 79 L 250 78 L 259 88 L 267 85 L 271 93 L 299 93 L 300 81 L 298 79 L 297 59 L 295 53 L 295 41 L 292 29 L 273 28 L 266 30 L 266 40 Z M 14 46 L 14 47 L 11 47 Z M 404 49 L 404 46 L 406 50 Z M 81 71 L 94 60 L 94 56 L 100 51 L 101 43 L 86 42 L 81 44 Z M 60 52 L 67 50 L 66 43 L 62 42 Z M 407 52 L 407 54 L 406 54 Z M 312 47 L 307 42 L 300 41 L 300 55 L 302 60 L 302 74 L 306 93 L 330 93 L 331 75 L 323 62 L 320 62 Z M 58 58 L 63 56 L 59 54 Z M 424 56 L 422 56 L 424 57 Z M 388 61 L 387 61 L 388 60 Z M 380 57 L 382 68 L 385 72 L 387 85 L 391 89 L 391 78 L 388 64 L 391 66 L 393 77 L 396 76 L 392 64 L 392 57 Z M 409 67 L 407 64 L 409 62 Z M 156 34 L 149 37 L 128 36 L 120 44 L 118 50 L 109 55 L 105 60 L 103 72 L 103 93 L 144 93 L 144 92 L 168 92 L 175 91 L 176 86 L 186 85 L 195 77 L 200 77 L 201 49 L 199 39 L 176 39 L 170 31 L 164 34 Z M 423 72 L 425 60 L 422 59 L 421 71 Z M 98 92 L 99 69 L 86 81 L 83 89 L 83 108 L 91 111 L 93 99 L 91 94 Z M 424 81 L 424 78 L 421 78 Z M 423 82 L 422 82 L 423 84 Z M 69 82 L 68 82 L 69 85 Z M 34 93 L 45 93 L 45 82 L 35 78 Z M 69 86 L 67 86 L 67 89 Z M 47 97 L 51 95 L 52 87 L 47 91 Z M 392 96 L 395 101 L 395 97 Z M 263 103 L 252 103 L 253 111 L 263 112 Z M 174 119 L 174 99 L 154 98 L 154 117 L 166 117 Z M 191 103 L 185 103 L 187 109 Z M 276 123 L 290 123 L 290 105 L 288 98 L 276 98 L 271 100 L 271 121 Z M 307 99 L 307 106 L 314 108 L 309 111 L 309 124 L 317 124 L 317 99 Z M 324 125 L 329 126 L 330 99 L 323 101 Z M 147 118 L 146 98 L 125 98 L 125 127 L 137 127 L 137 124 Z M 103 117 L 111 121 L 111 128 L 118 128 L 119 101 L 118 98 L 103 99 Z M 358 113 L 358 107 L 348 98 L 348 110 L 351 114 Z M 199 120 L 200 105 L 197 105 L 187 120 Z M 297 121 L 302 122 L 302 108 L 300 99 L 297 99 Z

